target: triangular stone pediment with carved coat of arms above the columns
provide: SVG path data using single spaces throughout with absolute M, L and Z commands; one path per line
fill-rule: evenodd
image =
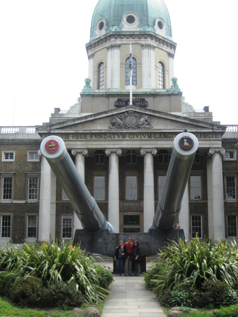
M 56 133 L 75 133 L 86 131 L 174 131 L 187 129 L 194 131 L 217 131 L 224 133 L 226 127 L 180 115 L 155 111 L 148 108 L 126 106 L 104 112 L 88 114 L 73 119 L 41 126 L 37 129 L 40 135 Z

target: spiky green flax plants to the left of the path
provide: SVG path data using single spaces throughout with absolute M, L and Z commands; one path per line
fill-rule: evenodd
M 80 250 L 80 246 L 69 248 L 69 245 L 63 242 L 59 248 L 58 243 L 53 241 L 52 244 L 43 245 L 26 242 L 22 248 L 5 247 L 0 252 L 0 270 L 14 274 L 16 279 L 39 277 L 44 285 L 73 283 L 82 292 L 86 303 L 104 301 L 113 275 L 103 269 L 107 281 L 104 280 L 102 287 L 102 267 Z

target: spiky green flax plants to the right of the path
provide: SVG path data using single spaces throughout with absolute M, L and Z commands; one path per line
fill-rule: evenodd
M 166 289 L 186 285 L 200 289 L 205 280 L 221 280 L 238 288 L 238 250 L 236 243 L 213 243 L 198 238 L 171 242 L 160 250 L 157 262 L 145 275 L 147 286 L 160 295 Z

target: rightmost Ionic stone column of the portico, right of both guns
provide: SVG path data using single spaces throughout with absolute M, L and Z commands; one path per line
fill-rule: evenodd
M 214 240 L 225 239 L 225 214 L 224 214 L 224 193 L 222 175 L 222 155 L 224 148 L 211 148 L 209 155 L 212 162 L 207 164 L 208 178 L 208 221 L 209 238 L 214 236 Z

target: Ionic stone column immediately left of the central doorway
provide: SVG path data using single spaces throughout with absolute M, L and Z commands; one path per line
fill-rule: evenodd
M 107 149 L 109 156 L 108 221 L 119 232 L 119 155 L 121 149 Z

